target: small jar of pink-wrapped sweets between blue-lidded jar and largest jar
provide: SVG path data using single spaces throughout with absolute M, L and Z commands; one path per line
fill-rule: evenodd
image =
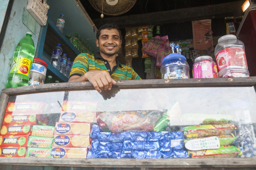
M 193 64 L 193 78 L 218 78 L 217 65 L 211 56 L 199 56 Z

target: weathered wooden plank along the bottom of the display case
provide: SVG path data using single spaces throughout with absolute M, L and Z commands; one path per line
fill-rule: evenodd
M 150 167 L 150 168 L 248 168 L 256 167 L 255 158 L 187 159 L 72 159 L 72 158 L 0 158 L 1 165 L 71 167 Z

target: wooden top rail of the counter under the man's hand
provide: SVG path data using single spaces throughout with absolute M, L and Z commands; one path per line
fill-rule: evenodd
M 255 86 L 256 76 L 248 78 L 204 78 L 204 79 L 152 79 L 152 80 L 124 80 L 117 81 L 112 86 L 114 89 L 132 88 L 175 88 L 175 87 L 244 87 Z M 70 82 L 39 84 L 34 86 L 23 86 L 15 88 L 5 88 L 2 93 L 7 95 L 22 95 L 30 93 L 50 92 L 50 91 L 74 91 L 74 90 L 94 90 L 90 82 Z M 111 90 L 109 91 L 111 92 Z

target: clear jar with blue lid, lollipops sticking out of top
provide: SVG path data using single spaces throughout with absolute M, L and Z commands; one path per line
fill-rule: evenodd
M 184 55 L 172 53 L 163 58 L 162 79 L 189 79 L 189 65 Z

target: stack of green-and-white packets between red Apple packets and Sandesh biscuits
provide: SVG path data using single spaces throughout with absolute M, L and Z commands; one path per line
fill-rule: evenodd
M 26 157 L 50 158 L 53 143 L 53 126 L 33 125 L 27 142 Z

